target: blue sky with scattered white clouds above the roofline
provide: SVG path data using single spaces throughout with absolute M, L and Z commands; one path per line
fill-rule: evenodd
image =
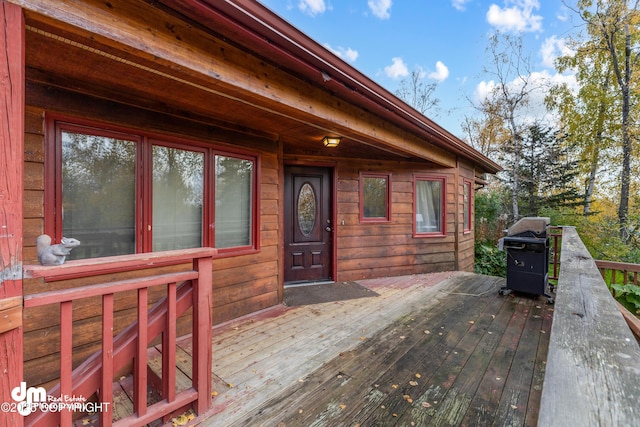
M 553 68 L 577 31 L 560 0 L 259 1 L 392 93 L 420 70 L 425 83 L 437 83 L 440 100 L 439 112 L 427 116 L 459 137 L 464 116 L 475 113 L 470 100 L 494 84 L 483 72 L 492 32 L 523 37 L 531 78 L 571 78 Z

